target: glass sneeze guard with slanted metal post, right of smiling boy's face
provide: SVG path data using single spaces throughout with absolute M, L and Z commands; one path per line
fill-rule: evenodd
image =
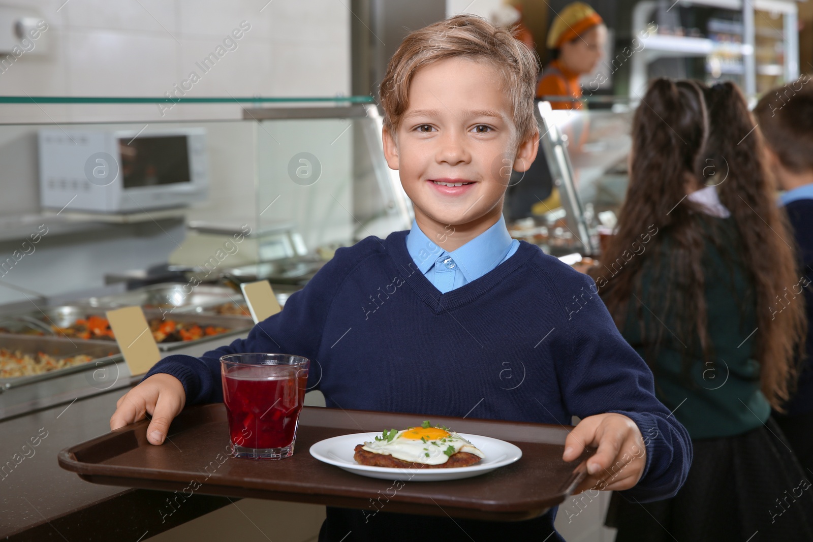
M 536 182 L 538 190 L 509 191 L 509 199 L 533 200 L 530 206 L 509 202 L 509 208 L 524 210 L 511 216 L 509 229 L 516 238 L 533 242 L 554 256 L 596 256 L 600 233 L 615 227 L 624 201 L 636 103 L 601 96 L 580 100 L 585 104 L 580 109 L 552 107 L 563 101 L 572 102 L 569 98 L 537 101 L 541 134 L 537 163 L 541 167 L 528 170 L 530 178 L 523 182 Z M 543 168 L 544 172 L 539 171 Z M 542 197 L 545 177 L 550 195 Z

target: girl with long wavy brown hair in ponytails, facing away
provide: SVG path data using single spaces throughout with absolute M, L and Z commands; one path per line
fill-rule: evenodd
M 617 233 L 590 274 L 694 459 L 676 496 L 616 493 L 606 523 L 617 542 L 813 540 L 811 475 L 770 418 L 806 323 L 802 303 L 775 307 L 798 277 L 759 130 L 736 86 L 659 79 L 632 135 Z

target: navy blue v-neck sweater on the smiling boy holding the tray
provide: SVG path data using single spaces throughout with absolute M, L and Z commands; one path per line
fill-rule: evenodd
M 176 376 L 189 405 L 222 401 L 220 356 L 280 352 L 311 359 L 308 388 L 333 408 L 563 425 L 573 415 L 618 412 L 647 441 L 641 480 L 624 494 L 653 501 L 677 492 L 689 472 L 689 434 L 655 398 L 649 367 L 616 329 L 593 280 L 523 241 L 486 275 L 441 294 L 415 267 L 405 238 L 394 232 L 338 249 L 245 340 L 200 359 L 167 356 L 147 377 Z M 499 532 L 542 540 L 554 513 Z M 328 507 L 323 540 L 346 525 L 354 536 L 368 529 L 370 540 L 375 532 L 389 539 L 386 527 L 410 518 L 382 512 L 364 522 L 364 514 Z M 383 531 L 372 531 L 374 523 Z

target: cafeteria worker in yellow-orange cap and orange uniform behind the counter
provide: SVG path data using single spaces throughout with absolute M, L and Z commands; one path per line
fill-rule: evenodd
M 581 109 L 579 77 L 593 72 L 602 58 L 606 26 L 601 15 L 584 2 L 568 4 L 550 25 L 546 45 L 553 59 L 537 83 L 537 98 L 563 96 L 551 101 L 553 109 Z

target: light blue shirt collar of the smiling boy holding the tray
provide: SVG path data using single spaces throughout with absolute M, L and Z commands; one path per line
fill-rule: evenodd
M 413 220 L 412 229 L 406 236 L 406 249 L 424 275 L 433 267 L 437 258 L 448 254 L 466 280 L 472 282 L 497 267 L 511 250 L 512 242 L 502 215 L 491 228 L 451 252 L 435 245 Z

